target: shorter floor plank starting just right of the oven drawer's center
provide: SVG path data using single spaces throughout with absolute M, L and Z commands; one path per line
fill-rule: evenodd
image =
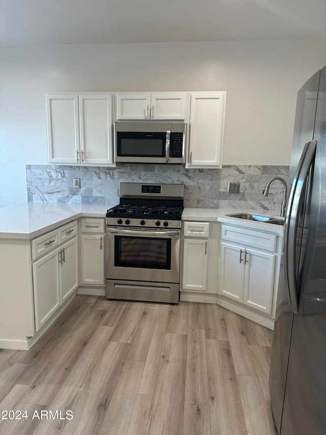
M 148 349 L 151 344 L 153 331 L 158 315 L 159 305 L 145 305 L 137 331 L 132 339 L 128 353 L 128 360 L 146 361 Z

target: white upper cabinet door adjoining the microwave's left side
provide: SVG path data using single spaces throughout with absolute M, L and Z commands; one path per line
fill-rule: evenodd
M 80 94 L 80 160 L 112 164 L 112 95 Z

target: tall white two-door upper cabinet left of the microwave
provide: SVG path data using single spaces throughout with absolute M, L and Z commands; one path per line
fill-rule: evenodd
M 112 94 L 46 95 L 50 163 L 112 165 Z

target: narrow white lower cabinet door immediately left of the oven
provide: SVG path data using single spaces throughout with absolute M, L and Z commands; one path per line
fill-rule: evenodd
M 80 236 L 80 284 L 104 285 L 104 235 Z

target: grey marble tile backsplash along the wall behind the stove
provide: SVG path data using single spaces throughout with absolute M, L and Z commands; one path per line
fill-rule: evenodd
M 222 169 L 185 169 L 184 165 L 117 164 L 116 168 L 26 165 L 28 201 L 105 204 L 119 203 L 120 182 L 184 185 L 184 206 L 214 209 L 280 210 L 283 185 L 275 181 L 268 197 L 267 181 L 279 175 L 287 181 L 288 166 L 227 165 Z M 80 178 L 80 189 L 73 178 Z M 240 183 L 240 193 L 228 193 Z

